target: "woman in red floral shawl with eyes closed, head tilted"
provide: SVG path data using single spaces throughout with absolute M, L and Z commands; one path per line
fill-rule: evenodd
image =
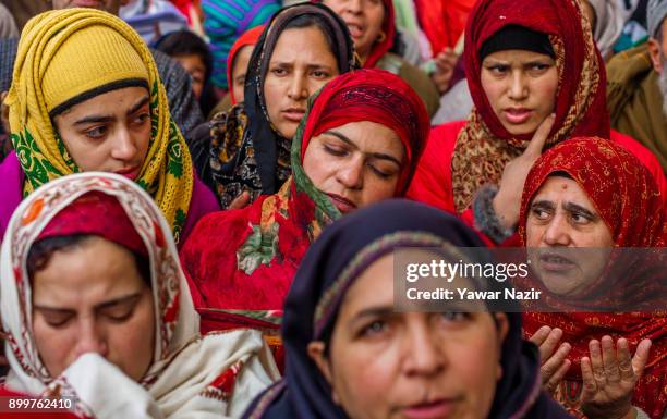
M 360 70 L 325 86 L 292 140 L 281 189 L 202 220 L 181 252 L 203 332 L 277 333 L 311 243 L 342 214 L 402 196 L 428 128 L 422 101 L 393 74 Z

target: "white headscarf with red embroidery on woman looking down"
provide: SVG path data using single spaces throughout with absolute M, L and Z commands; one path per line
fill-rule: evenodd
M 155 301 L 154 360 L 141 382 L 97 354 L 85 354 L 57 378 L 41 362 L 32 331 L 26 269 L 33 243 L 47 224 L 82 195 L 98 190 L 118 199 L 144 241 Z M 199 336 L 187 282 L 171 230 L 159 208 L 126 178 L 87 172 L 50 182 L 16 209 L 2 242 L 0 309 L 9 334 L 7 385 L 39 395 L 74 396 L 78 414 L 105 418 L 220 418 L 240 416 L 279 374 L 260 332 Z

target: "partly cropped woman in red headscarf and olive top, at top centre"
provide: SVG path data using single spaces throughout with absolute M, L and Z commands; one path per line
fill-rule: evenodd
M 440 94 L 426 73 L 389 52 L 396 39 L 392 0 L 319 0 L 340 15 L 364 69 L 381 69 L 397 74 L 420 95 L 429 115 L 440 106 Z

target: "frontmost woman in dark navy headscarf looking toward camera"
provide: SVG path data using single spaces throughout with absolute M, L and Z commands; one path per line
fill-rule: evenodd
M 452 256 L 452 246 L 484 245 L 454 217 L 405 200 L 325 230 L 286 303 L 286 378 L 245 417 L 570 418 L 541 390 L 539 357 L 521 338 L 520 313 L 393 311 L 393 250 Z

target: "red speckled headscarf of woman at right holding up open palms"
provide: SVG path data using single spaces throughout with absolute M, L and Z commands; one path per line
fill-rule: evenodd
M 622 146 L 602 138 L 572 138 L 545 152 L 531 170 L 521 200 L 519 236 L 526 241 L 526 220 L 533 197 L 546 180 L 557 172 L 567 173 L 586 193 L 601 218 L 611 232 L 617 247 L 665 247 L 667 223 L 659 189 L 645 167 Z M 626 272 L 629 273 L 629 272 Z M 592 287 L 604 287 L 605 296 L 615 293 L 632 293 L 618 298 L 648 300 L 659 297 L 659 280 L 648 286 L 633 284 L 633 276 L 626 274 L 615 280 L 603 275 Z M 635 286 L 633 286 L 635 285 Z M 590 287 L 583 294 L 594 292 Z M 663 287 L 664 288 L 664 287 Z M 601 300 L 604 304 L 604 300 Z M 653 346 L 644 375 L 635 386 L 633 404 L 644 409 L 651 418 L 662 418 L 667 408 L 667 316 L 647 312 L 553 312 L 524 315 L 526 335 L 533 335 L 541 326 L 560 328 L 562 342 L 572 345 L 568 359 L 572 367 L 567 379 L 581 380 L 580 359 L 589 356 L 589 342 L 608 334 L 615 342 L 628 338 L 632 352 L 643 338 L 651 338 Z M 577 407 L 577 406 L 574 406 Z

